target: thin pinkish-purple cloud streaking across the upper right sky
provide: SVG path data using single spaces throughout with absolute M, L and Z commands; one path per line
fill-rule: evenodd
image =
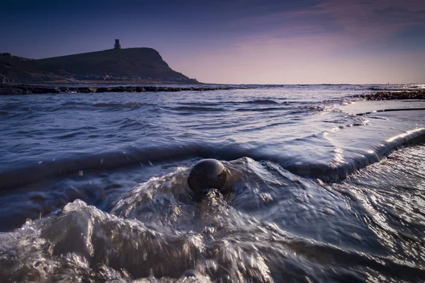
M 310 6 L 274 9 L 235 18 L 234 27 L 275 37 L 343 34 L 356 40 L 388 38 L 414 26 L 425 26 L 423 0 L 322 0 Z

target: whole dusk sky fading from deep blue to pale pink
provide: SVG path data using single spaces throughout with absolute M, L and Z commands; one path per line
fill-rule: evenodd
M 205 83 L 425 83 L 424 0 L 0 0 L 0 52 L 115 38 Z

